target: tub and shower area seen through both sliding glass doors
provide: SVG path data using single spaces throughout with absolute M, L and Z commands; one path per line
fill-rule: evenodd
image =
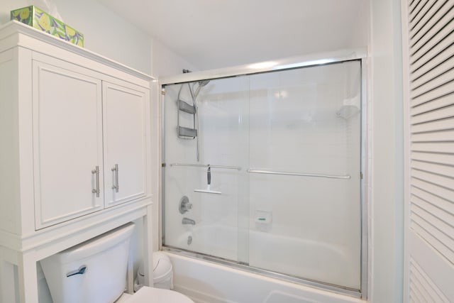
M 357 59 L 162 84 L 162 248 L 364 297 L 361 75 Z

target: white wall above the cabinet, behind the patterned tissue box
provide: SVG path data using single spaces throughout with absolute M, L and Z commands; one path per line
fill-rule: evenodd
M 151 42 L 145 32 L 128 23 L 116 13 L 92 0 L 43 1 L 2 0 L 0 24 L 9 21 L 9 12 L 35 4 L 45 11 L 56 11 L 62 21 L 84 34 L 84 48 L 130 67 L 151 73 Z

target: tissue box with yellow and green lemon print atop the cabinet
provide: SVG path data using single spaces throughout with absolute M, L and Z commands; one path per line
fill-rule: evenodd
M 40 31 L 45 31 L 50 35 L 70 41 L 70 43 L 84 46 L 84 35 L 82 33 L 50 16 L 45 11 L 38 9 L 36 6 L 27 6 L 11 11 L 11 20 L 26 23 Z

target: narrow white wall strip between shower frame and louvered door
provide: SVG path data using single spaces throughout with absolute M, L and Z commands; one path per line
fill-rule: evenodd
M 402 302 L 403 112 L 400 1 L 371 1 L 372 302 Z

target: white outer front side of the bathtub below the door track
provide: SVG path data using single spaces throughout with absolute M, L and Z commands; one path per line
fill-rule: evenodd
M 196 303 L 364 303 L 361 299 L 165 252 L 177 292 Z

